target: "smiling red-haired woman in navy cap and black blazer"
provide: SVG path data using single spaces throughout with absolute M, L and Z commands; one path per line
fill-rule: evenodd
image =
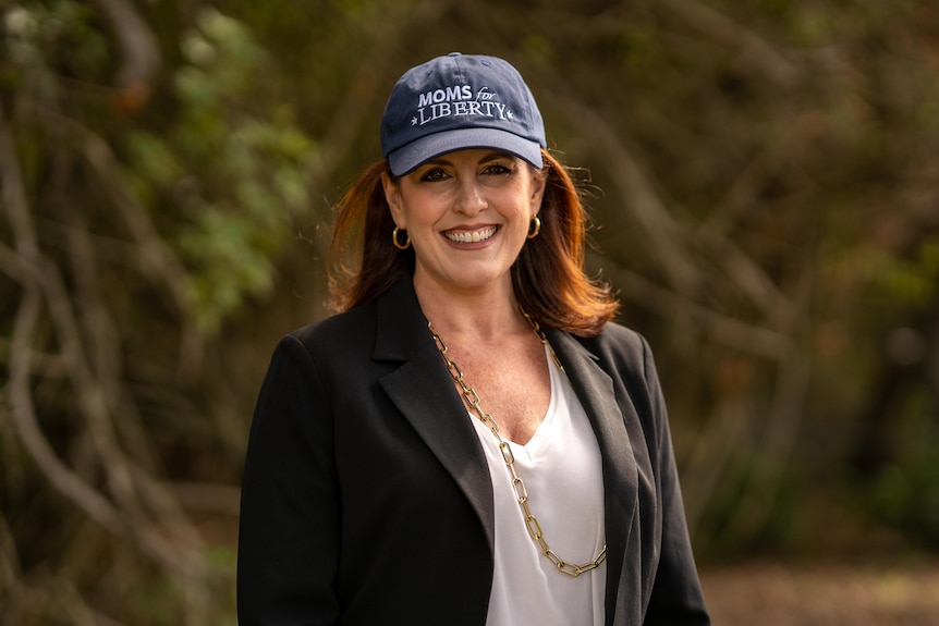
M 522 77 L 414 67 L 381 143 L 338 207 L 343 312 L 258 398 L 242 626 L 708 624 L 651 354 Z

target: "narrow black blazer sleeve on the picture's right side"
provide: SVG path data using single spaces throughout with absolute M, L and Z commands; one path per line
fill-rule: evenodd
M 644 400 L 639 409 L 648 415 L 646 439 L 653 464 L 658 472 L 662 512 L 659 563 L 646 609 L 645 626 L 707 626 L 710 624 L 692 553 L 682 502 L 681 486 L 672 449 L 668 412 L 656 372 L 653 353 L 645 339 L 643 345 Z

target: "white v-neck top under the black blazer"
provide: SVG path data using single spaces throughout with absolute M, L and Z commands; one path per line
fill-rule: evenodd
M 510 442 L 515 471 L 542 537 L 568 563 L 592 562 L 606 543 L 600 449 L 584 407 L 546 346 L 551 402 L 525 445 Z M 486 398 L 481 398 L 483 407 Z M 496 500 L 496 567 L 487 626 L 602 626 L 606 563 L 574 578 L 528 535 L 496 438 L 472 415 L 486 451 Z M 492 418 L 499 422 L 499 416 Z

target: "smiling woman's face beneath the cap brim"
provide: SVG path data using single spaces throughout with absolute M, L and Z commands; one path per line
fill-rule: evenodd
M 414 246 L 415 283 L 511 286 L 509 269 L 545 192 L 544 176 L 528 163 L 496 150 L 460 150 L 382 183 L 392 218 Z

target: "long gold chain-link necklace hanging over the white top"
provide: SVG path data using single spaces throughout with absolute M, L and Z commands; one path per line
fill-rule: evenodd
M 528 323 L 532 326 L 532 330 L 535 331 L 535 334 L 538 335 L 538 339 L 541 343 L 548 346 L 548 349 L 551 351 L 551 360 L 554 361 L 554 365 L 558 366 L 562 372 L 564 371 L 564 367 L 561 365 L 561 361 L 558 360 L 558 355 L 554 354 L 554 348 L 551 347 L 551 344 L 548 343 L 548 337 L 545 336 L 545 332 L 538 326 L 538 322 L 533 320 L 528 314 L 522 311 L 522 315 L 525 316 L 525 319 L 528 320 Z M 528 535 L 532 536 L 532 539 L 535 540 L 535 543 L 538 544 L 538 548 L 541 549 L 541 552 L 545 553 L 545 556 L 554 564 L 554 567 L 558 568 L 558 572 L 566 574 L 568 576 L 577 577 L 584 572 L 589 572 L 590 569 L 596 569 L 600 563 L 606 561 L 607 559 L 607 547 L 603 545 L 603 549 L 600 550 L 600 553 L 596 559 L 590 561 L 589 563 L 584 563 L 583 565 L 575 565 L 573 563 L 568 563 L 563 561 L 560 556 L 558 556 L 553 550 L 548 545 L 548 542 L 545 541 L 545 536 L 541 532 L 541 525 L 538 524 L 538 518 L 532 513 L 532 510 L 528 507 L 528 492 L 525 490 L 525 483 L 519 478 L 519 475 L 515 472 L 515 455 L 512 454 L 512 449 L 509 446 L 509 442 L 502 439 L 502 435 L 499 434 L 499 426 L 496 424 L 496 420 L 492 419 L 492 416 L 483 410 L 483 407 L 479 406 L 479 395 L 476 391 L 466 384 L 466 381 L 463 380 L 463 372 L 460 371 L 460 368 L 447 355 L 447 344 L 443 343 L 443 340 L 440 339 L 440 335 L 434 331 L 434 327 L 430 322 L 427 322 L 427 328 L 430 330 L 430 334 L 434 335 L 434 341 L 437 343 L 437 349 L 440 351 L 440 356 L 443 357 L 443 360 L 447 363 L 447 369 L 450 371 L 450 377 L 453 379 L 460 390 L 463 392 L 463 400 L 466 401 L 466 404 L 470 405 L 470 408 L 476 413 L 476 417 L 479 418 L 486 427 L 489 429 L 489 432 L 492 433 L 492 437 L 496 438 L 496 441 L 499 443 L 499 452 L 502 454 L 502 459 L 505 462 L 505 467 L 509 469 L 509 476 L 512 478 L 512 489 L 515 492 L 515 498 L 519 501 L 519 506 L 522 508 L 522 515 L 525 516 L 525 527 L 528 529 Z

